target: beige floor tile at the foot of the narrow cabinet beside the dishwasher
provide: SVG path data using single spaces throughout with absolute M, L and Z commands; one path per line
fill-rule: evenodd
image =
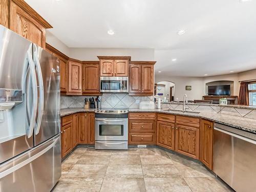
M 191 164 L 182 165 L 176 164 L 176 168 L 183 177 L 214 177 L 203 165 Z

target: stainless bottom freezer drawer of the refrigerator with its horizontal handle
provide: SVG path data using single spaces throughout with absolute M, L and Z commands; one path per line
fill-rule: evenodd
M 61 176 L 60 135 L 0 166 L 0 191 L 51 191 Z

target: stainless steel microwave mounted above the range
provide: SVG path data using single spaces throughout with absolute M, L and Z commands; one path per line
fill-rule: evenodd
M 100 92 L 128 93 L 128 77 L 100 77 Z

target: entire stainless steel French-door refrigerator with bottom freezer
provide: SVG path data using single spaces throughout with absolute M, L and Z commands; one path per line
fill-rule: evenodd
M 59 77 L 57 57 L 0 25 L 0 192 L 60 178 Z

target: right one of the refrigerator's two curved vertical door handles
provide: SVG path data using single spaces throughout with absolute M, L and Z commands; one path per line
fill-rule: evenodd
M 38 51 L 36 46 L 34 46 L 34 62 L 35 62 L 35 67 L 37 69 L 37 76 L 38 76 L 38 82 L 39 82 L 38 117 L 37 117 L 37 122 L 35 127 L 35 134 L 37 135 L 40 131 L 42 114 L 44 113 L 44 81 L 42 79 L 42 71 L 41 71 L 41 66 L 38 59 Z

